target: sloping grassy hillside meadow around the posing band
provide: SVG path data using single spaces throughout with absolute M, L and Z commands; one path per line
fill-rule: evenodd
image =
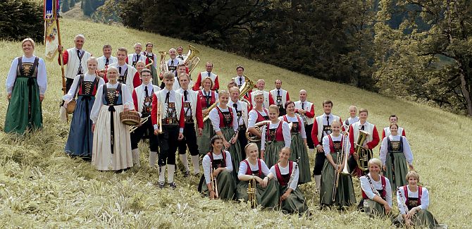
M 135 42 L 154 42 L 154 50 L 188 42 L 147 32 L 66 19 L 61 24 L 65 47 L 73 46 L 73 37 L 87 37 L 85 49 L 101 56 L 101 47 L 132 49 Z M 355 87 L 317 80 L 265 63 L 223 51 L 195 45 L 201 52 L 196 72 L 213 61 L 221 85 L 230 81 L 238 65 L 244 66 L 252 80 L 266 79 L 268 88 L 282 79 L 285 89 L 296 98 L 299 89 L 307 89 L 309 101 L 322 113 L 321 102 L 331 99 L 333 113 L 346 118 L 347 108 L 355 104 L 369 110 L 368 120 L 378 129 L 387 126 L 395 113 L 406 129 L 414 151 L 414 166 L 421 182 L 430 190 L 430 208 L 438 221 L 451 228 L 466 228 L 472 216 L 471 170 L 472 125 L 470 118 L 457 116 L 421 104 L 390 99 Z M 18 42 L 0 42 L 0 85 L 5 85 L 11 61 L 22 54 Z M 36 54 L 44 56 L 44 47 Z M 96 171 L 88 162 L 70 159 L 63 153 L 68 125 L 58 121 L 61 100 L 61 74 L 56 61 L 46 63 L 49 87 L 43 102 L 44 130 L 29 137 L 15 137 L 0 132 L 0 227 L 22 228 L 388 228 L 390 221 L 371 219 L 364 213 L 316 209 L 318 195 L 314 182 L 302 185 L 313 216 L 299 218 L 276 211 L 250 210 L 244 203 L 210 201 L 197 193 L 198 178 L 182 178 L 178 189 L 159 190 L 157 171 L 147 166 L 149 150 L 141 145 L 142 167 L 126 173 Z M 223 86 L 222 86 L 223 87 Z M 5 87 L 0 87 L 0 128 L 3 130 L 8 102 Z M 378 152 L 378 149 L 375 149 Z M 313 157 L 313 155 L 311 155 Z M 311 163 L 313 165 L 313 162 Z M 359 200 L 359 181 L 354 180 Z M 314 199 L 313 199 L 314 198 Z M 396 203 L 394 204 L 396 205 Z M 395 211 L 397 213 L 397 211 Z

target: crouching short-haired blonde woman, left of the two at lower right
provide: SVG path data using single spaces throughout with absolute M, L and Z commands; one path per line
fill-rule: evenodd
M 392 188 L 390 181 L 380 175 L 382 161 L 371 159 L 367 163 L 369 173 L 359 178 L 362 199 L 359 209 L 368 216 L 387 216 L 392 211 Z

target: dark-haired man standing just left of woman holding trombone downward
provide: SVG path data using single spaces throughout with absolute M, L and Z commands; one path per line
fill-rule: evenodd
M 323 164 L 325 163 L 325 151 L 323 150 L 323 137 L 329 135 L 331 131 L 331 123 L 334 120 L 342 120 L 339 116 L 335 116 L 331 113 L 333 109 L 333 102 L 330 100 L 323 101 L 323 115 L 317 116 L 311 129 L 311 139 L 314 145 L 316 145 L 316 156 L 315 156 L 315 168 L 313 169 L 313 176 L 316 182 L 316 189 L 320 190 L 321 185 L 321 171 L 323 170 Z

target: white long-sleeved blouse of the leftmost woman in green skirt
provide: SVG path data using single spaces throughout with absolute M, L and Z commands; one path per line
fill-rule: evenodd
M 23 63 L 35 63 L 36 56 L 33 55 L 30 58 L 27 58 L 23 55 L 21 62 Z M 15 85 L 16 73 L 18 70 L 18 57 L 13 60 L 11 63 L 10 71 L 6 77 L 6 93 L 11 93 L 13 91 L 13 86 Z M 39 87 L 39 94 L 46 93 L 47 89 L 47 75 L 46 75 L 46 64 L 42 58 L 38 60 L 37 66 L 37 84 Z

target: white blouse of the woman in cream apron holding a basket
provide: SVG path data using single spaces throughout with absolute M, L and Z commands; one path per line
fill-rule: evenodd
M 112 85 L 110 82 L 106 83 L 106 87 L 110 89 L 116 89 L 118 87 L 118 82 Z M 97 89 L 97 94 L 95 95 L 94 106 L 92 106 L 92 111 L 90 111 L 90 119 L 95 123 L 97 118 L 99 118 L 99 113 L 101 106 L 104 105 L 104 85 L 101 85 Z M 125 84 L 121 84 L 121 100 L 123 101 L 123 106 L 128 105 L 128 109 L 134 110 L 135 104 L 132 101 L 130 90 Z

